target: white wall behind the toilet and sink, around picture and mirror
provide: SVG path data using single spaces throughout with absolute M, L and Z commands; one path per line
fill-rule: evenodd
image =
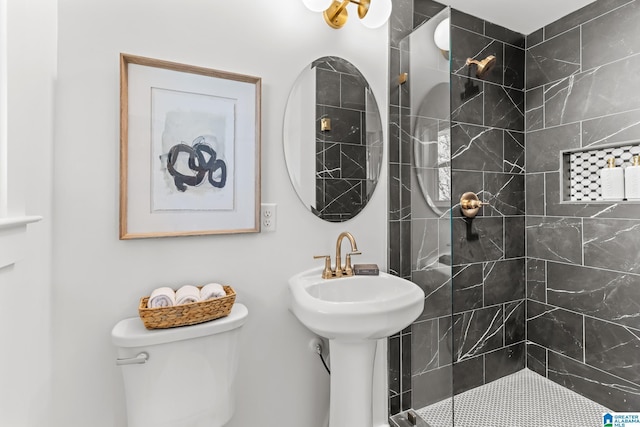
M 387 122 L 388 28 L 355 11 L 329 28 L 299 0 L 59 0 L 54 170 L 54 404 L 50 425 L 125 425 L 110 331 L 158 285 L 224 281 L 249 309 L 238 406 L 230 427 L 320 427 L 328 376 L 311 334 L 287 309 L 287 278 L 319 265 L 351 231 L 358 261 L 386 265 L 386 171 L 369 206 L 345 224 L 306 211 L 289 183 L 282 122 L 289 90 L 313 59 L 360 68 Z M 120 52 L 262 77 L 262 200 L 275 233 L 118 240 Z M 161 409 L 162 410 L 162 409 Z

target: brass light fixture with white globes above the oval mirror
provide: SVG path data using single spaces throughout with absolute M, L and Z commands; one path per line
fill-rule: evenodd
M 358 5 L 360 22 L 367 28 L 384 25 L 391 15 L 391 0 L 302 0 L 309 10 L 323 12 L 331 28 L 340 29 L 347 22 L 350 3 Z

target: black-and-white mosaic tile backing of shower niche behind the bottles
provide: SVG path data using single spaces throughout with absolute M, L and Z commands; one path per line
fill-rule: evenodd
M 607 159 L 613 157 L 616 167 L 631 165 L 633 156 L 640 155 L 640 145 L 597 147 L 588 150 L 563 153 L 565 201 L 602 201 L 600 171 L 607 167 Z

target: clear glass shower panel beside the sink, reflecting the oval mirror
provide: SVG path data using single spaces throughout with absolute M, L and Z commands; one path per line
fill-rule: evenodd
M 411 280 L 426 295 L 411 328 L 412 408 L 418 425 L 431 427 L 453 425 L 450 67 L 448 52 L 434 43 L 449 15 L 445 8 L 400 42 L 402 143 L 411 155 Z M 434 405 L 437 413 L 428 410 Z

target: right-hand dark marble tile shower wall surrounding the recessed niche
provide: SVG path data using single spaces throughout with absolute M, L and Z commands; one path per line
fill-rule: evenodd
M 598 0 L 525 52 L 527 366 L 614 411 L 640 407 L 640 204 L 561 202 L 560 151 L 640 140 L 638 22 Z

